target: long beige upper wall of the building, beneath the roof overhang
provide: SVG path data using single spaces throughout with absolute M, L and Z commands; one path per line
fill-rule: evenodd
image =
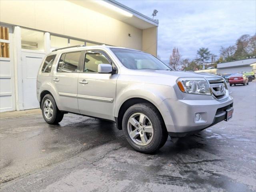
M 157 27 L 142 31 L 66 0 L 1 0 L 0 22 L 156 55 Z

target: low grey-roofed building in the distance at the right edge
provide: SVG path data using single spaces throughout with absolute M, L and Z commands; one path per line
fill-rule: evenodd
M 217 64 L 217 69 L 218 74 L 231 74 L 251 71 L 256 73 L 256 58 L 219 63 Z

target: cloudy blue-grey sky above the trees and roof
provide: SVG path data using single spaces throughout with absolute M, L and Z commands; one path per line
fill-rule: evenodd
M 220 46 L 234 45 L 243 34 L 256 33 L 256 0 L 118 0 L 159 20 L 158 55 L 168 63 L 174 47 L 182 58 L 196 58 L 205 47 L 219 56 Z

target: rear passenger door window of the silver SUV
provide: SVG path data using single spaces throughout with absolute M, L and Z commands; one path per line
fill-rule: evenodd
M 66 53 L 65 56 L 61 56 L 58 72 L 62 73 L 76 73 L 78 68 L 78 63 L 80 60 L 81 52 Z M 63 59 L 64 58 L 64 59 Z M 60 66 L 61 70 L 60 70 Z

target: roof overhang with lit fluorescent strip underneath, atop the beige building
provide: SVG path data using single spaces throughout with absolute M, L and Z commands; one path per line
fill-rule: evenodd
M 139 29 L 158 26 L 158 20 L 153 20 L 115 0 L 68 0 L 74 4 L 88 8 L 100 14 L 130 24 Z

